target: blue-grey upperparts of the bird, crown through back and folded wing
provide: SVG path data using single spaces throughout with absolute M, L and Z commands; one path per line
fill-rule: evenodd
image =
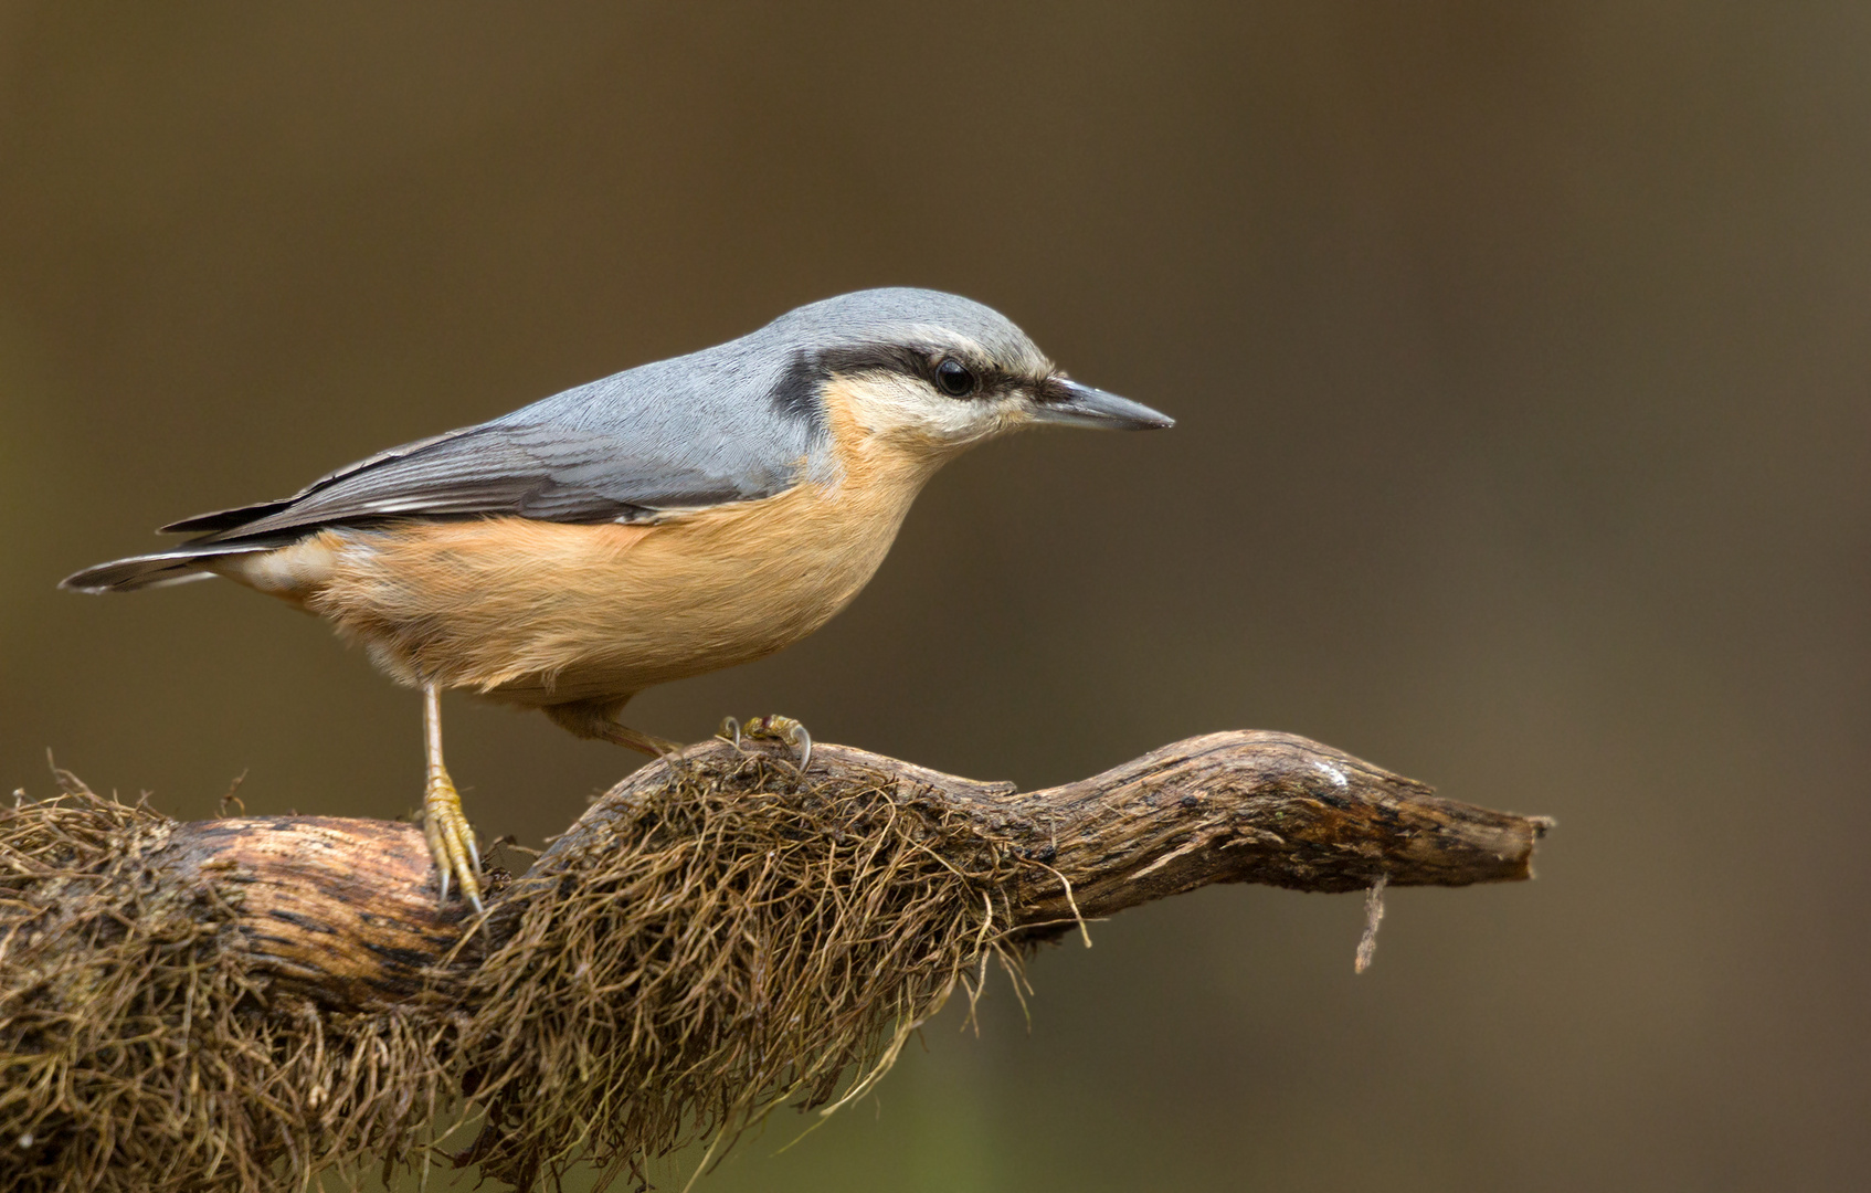
M 389 516 L 629 522 L 767 497 L 797 484 L 825 451 L 819 355 L 913 342 L 973 344 L 1031 367 L 1044 361 L 980 303 L 934 290 L 864 290 L 801 307 L 737 340 L 391 449 L 283 501 L 167 529 L 225 542 Z

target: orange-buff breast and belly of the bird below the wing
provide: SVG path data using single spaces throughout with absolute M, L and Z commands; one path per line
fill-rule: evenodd
M 638 525 L 335 527 L 215 570 L 331 619 L 406 684 L 625 699 L 819 628 L 876 572 L 919 484 L 883 488 L 900 492 L 801 484 Z

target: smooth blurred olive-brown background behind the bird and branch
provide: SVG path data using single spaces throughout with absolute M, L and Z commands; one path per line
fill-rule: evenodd
M 1540 881 L 1220 888 L 1042 954 L 703 1187 L 1841 1189 L 1871 1161 L 1871 9 L 0 9 L 0 780 L 408 812 L 419 709 L 170 518 L 874 284 L 1181 419 L 922 497 L 657 690 L 1050 783 L 1308 733 L 1553 813 Z M 455 699 L 485 834 L 636 759 Z M 681 1182 L 681 1165 L 659 1169 Z

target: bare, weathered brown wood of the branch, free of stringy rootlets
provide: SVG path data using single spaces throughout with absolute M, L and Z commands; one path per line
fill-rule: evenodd
M 786 757 L 748 740 L 743 750 Z M 690 746 L 679 767 L 718 767 L 735 746 Z M 616 828 L 621 810 L 670 780 L 651 763 L 617 783 L 533 866 L 578 877 L 573 858 Z M 1018 791 L 941 774 L 851 746 L 819 744 L 812 783 L 866 785 L 945 804 L 1010 840 L 1057 875 L 1029 881 L 1014 916 L 1029 931 L 1100 918 L 1211 883 L 1289 890 L 1467 886 L 1532 877 L 1545 817 L 1489 812 L 1289 733 L 1192 737 L 1104 774 Z M 413 825 L 314 815 L 178 825 L 163 864 L 176 881 L 219 871 L 238 883 L 245 946 L 283 984 L 329 1008 L 413 995 L 458 942 L 460 905 L 438 905 L 428 847 Z M 1042 871 L 1044 873 L 1044 871 Z M 515 907 L 492 898 L 490 942 Z

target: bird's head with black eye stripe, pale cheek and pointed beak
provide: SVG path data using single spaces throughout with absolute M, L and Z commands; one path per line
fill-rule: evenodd
M 767 331 L 793 352 L 778 402 L 930 462 L 1022 426 L 1173 424 L 1066 378 L 1007 316 L 952 294 L 863 290 L 801 307 Z

